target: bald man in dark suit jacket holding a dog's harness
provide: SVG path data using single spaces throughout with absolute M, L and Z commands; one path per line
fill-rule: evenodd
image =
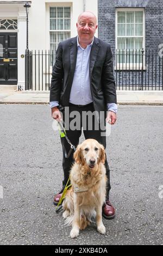
M 97 39 L 94 34 L 97 29 L 96 16 L 90 11 L 80 14 L 77 22 L 78 36 L 60 42 L 56 54 L 55 64 L 52 72 L 52 83 L 50 92 L 50 106 L 52 118 L 61 121 L 66 118 L 66 107 L 69 113 L 77 111 L 82 116 L 84 111 L 104 112 L 98 123 L 116 122 L 116 89 L 112 68 L 112 53 L 110 45 Z M 108 111 L 108 112 L 107 112 Z M 62 113 L 62 115 L 61 115 Z M 66 116 L 65 116 L 66 115 Z M 69 116 L 69 123 L 72 117 Z M 95 118 L 96 119 L 96 118 Z M 106 147 L 106 137 L 101 136 L 101 126 L 95 130 L 83 130 L 85 138 L 94 138 Z M 66 135 L 71 143 L 77 147 L 79 137 L 82 133 L 82 118 L 80 129 L 67 129 Z M 70 150 L 66 139 L 61 139 L 63 149 L 62 167 L 64 169 L 64 180 L 61 191 L 54 197 L 54 204 L 57 205 L 62 191 L 67 183 L 70 168 L 73 163 L 73 152 L 66 158 L 64 151 Z M 110 171 L 107 160 L 105 161 L 108 184 L 106 190 L 106 202 L 103 205 L 103 216 L 111 219 L 115 217 L 115 209 L 109 200 Z

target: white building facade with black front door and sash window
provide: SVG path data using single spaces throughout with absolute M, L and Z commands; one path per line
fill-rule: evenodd
M 47 55 L 48 51 L 55 53 L 60 41 L 77 35 L 76 22 L 80 13 L 91 10 L 98 16 L 97 0 L 0 0 L 0 86 L 17 84 L 19 88 L 25 89 L 27 14 L 24 5 L 26 3 L 30 5 L 28 48 L 36 53 L 39 50 L 44 53 L 46 51 Z M 98 32 L 96 36 L 97 34 Z M 42 70 L 43 74 L 38 69 Z M 38 72 L 41 74 L 39 81 L 42 76 L 45 80 L 52 72 L 52 61 L 50 60 L 48 65 L 47 60 L 46 68 L 38 66 L 35 71 L 37 76 Z M 35 80 L 34 74 L 33 80 Z M 49 86 L 49 82 L 47 83 Z

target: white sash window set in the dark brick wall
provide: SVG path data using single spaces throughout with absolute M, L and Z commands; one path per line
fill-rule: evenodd
M 144 10 L 117 9 L 116 35 L 117 62 L 142 63 Z

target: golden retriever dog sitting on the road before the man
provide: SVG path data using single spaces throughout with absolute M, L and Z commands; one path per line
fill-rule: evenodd
M 105 150 L 95 139 L 86 139 L 74 152 L 70 172 L 71 189 L 63 202 L 65 223 L 72 225 L 71 238 L 79 235 L 96 216 L 97 230 L 105 233 L 102 206 L 106 193 Z

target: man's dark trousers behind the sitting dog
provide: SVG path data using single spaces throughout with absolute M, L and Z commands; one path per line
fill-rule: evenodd
M 95 111 L 95 109 L 94 109 L 92 103 L 89 105 L 86 105 L 86 106 L 78 106 L 78 105 L 73 105 L 70 103 L 70 106 L 68 109 L 69 114 L 71 114 L 72 111 L 77 111 L 79 113 L 80 122 L 79 122 L 79 124 L 75 124 L 76 126 L 78 126 L 77 129 L 66 130 L 66 135 L 67 135 L 68 139 L 70 139 L 71 143 L 75 147 L 77 147 L 77 145 L 79 144 L 79 138 L 82 134 L 82 126 L 85 126 L 85 124 L 83 124 L 83 120 L 82 120 L 82 112 L 87 112 L 87 111 L 93 112 L 93 111 Z M 65 121 L 65 126 L 67 126 L 67 121 L 66 121 L 67 120 L 67 111 L 65 110 L 64 112 L 62 112 L 62 114 L 63 114 L 63 119 Z M 69 118 L 69 124 L 70 124 L 71 121 L 74 120 L 75 117 L 68 117 L 68 118 Z M 94 121 L 95 121 L 95 118 L 94 118 Z M 100 127 L 98 130 L 95 130 L 95 122 L 94 121 L 92 122 L 91 130 L 88 129 L 87 122 L 86 122 L 86 127 L 83 127 L 84 137 L 85 137 L 85 139 L 90 139 L 90 138 L 96 139 L 99 143 L 101 143 L 104 146 L 104 148 L 106 148 L 106 137 L 101 136 Z M 69 126 L 69 124 L 68 124 L 68 126 Z M 70 157 L 66 158 L 65 150 L 66 150 L 66 153 L 68 154 L 68 152 L 70 150 L 70 144 L 68 144 L 65 137 L 61 138 L 61 144 L 62 144 L 62 151 L 63 151 L 62 167 L 64 169 L 64 180 L 62 181 L 62 190 L 61 190 L 61 192 L 62 192 L 64 190 L 64 187 L 66 186 L 66 183 L 67 183 L 69 175 L 70 175 L 70 169 L 74 162 L 74 159 L 73 159 L 74 150 L 72 150 Z M 106 176 L 108 178 L 108 182 L 107 182 L 107 186 L 106 186 L 106 199 L 109 199 L 109 191 L 110 191 L 111 187 L 110 187 L 110 170 L 109 170 L 107 160 L 105 160 L 105 168 L 106 168 Z

